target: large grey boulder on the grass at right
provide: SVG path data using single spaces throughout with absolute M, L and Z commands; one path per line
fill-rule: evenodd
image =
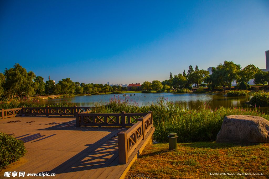
M 260 116 L 225 116 L 216 142 L 269 142 L 269 121 Z

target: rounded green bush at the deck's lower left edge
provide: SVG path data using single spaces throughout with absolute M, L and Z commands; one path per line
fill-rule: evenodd
M 0 170 L 19 160 L 27 152 L 23 141 L 13 136 L 0 132 Z

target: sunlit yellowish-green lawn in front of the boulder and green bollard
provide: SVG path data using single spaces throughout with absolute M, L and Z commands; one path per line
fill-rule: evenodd
M 269 178 L 269 143 L 179 143 L 147 145 L 126 178 L 139 173 L 157 178 Z M 218 175 L 209 173 L 257 173 L 264 175 Z

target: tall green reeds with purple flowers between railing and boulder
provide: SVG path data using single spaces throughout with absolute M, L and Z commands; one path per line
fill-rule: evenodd
M 225 116 L 253 115 L 269 120 L 269 116 L 259 108 L 224 108 L 212 109 L 206 103 L 199 109 L 184 110 L 182 106 L 168 98 L 159 97 L 148 106 L 139 106 L 129 97 L 111 98 L 109 102 L 98 102 L 93 113 L 146 113 L 153 111 L 154 139 L 161 143 L 168 142 L 168 133 L 175 132 L 178 142 L 214 141 L 221 129 Z

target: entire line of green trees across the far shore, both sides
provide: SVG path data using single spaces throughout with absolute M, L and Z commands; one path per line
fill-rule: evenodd
M 255 65 L 247 65 L 241 69 L 239 64 L 233 61 L 224 61 L 217 67 L 212 68 L 212 74 L 206 70 L 199 70 L 196 65 L 193 69 L 192 65 L 189 66 L 187 74 L 185 70 L 183 74 L 178 74 L 170 77 L 162 82 L 154 80 L 152 82 L 145 81 L 141 87 L 132 87 L 131 90 L 158 90 L 158 89 L 192 89 L 200 87 L 208 87 L 213 90 L 215 87 L 221 87 L 224 92 L 226 87 L 231 90 L 233 82 L 238 84 L 248 84 L 250 79 L 254 79 L 255 84 L 266 85 L 269 84 L 269 72 L 261 71 Z M 268 86 L 268 85 L 267 85 Z M 54 83 L 53 80 L 44 82 L 42 76 L 36 76 L 33 71 L 27 72 L 25 68 L 16 63 L 12 68 L 5 69 L 0 73 L 0 96 L 21 97 L 22 95 L 45 95 L 45 94 L 85 94 L 85 93 L 100 93 L 100 92 L 113 92 L 127 91 L 127 87 L 122 86 L 109 86 L 108 84 L 84 84 L 73 82 L 70 78 L 60 80 Z

